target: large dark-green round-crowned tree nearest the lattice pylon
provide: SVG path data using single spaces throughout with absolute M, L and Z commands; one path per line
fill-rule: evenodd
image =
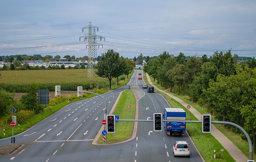
M 103 53 L 97 64 L 98 70 L 96 74 L 102 78 L 108 78 L 109 88 L 111 88 L 111 80 L 119 75 L 118 71 L 122 69 L 120 65 L 119 53 L 109 49 Z

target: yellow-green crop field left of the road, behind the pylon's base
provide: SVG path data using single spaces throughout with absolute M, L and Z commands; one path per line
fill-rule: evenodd
M 109 81 L 106 78 L 87 78 L 87 69 L 58 69 L 58 70 L 4 70 L 0 71 L 0 88 L 7 92 L 24 93 L 31 84 L 40 90 L 53 92 L 56 85 L 61 90 L 76 91 L 77 86 L 84 90 L 106 88 Z M 114 82 L 114 79 L 112 80 Z

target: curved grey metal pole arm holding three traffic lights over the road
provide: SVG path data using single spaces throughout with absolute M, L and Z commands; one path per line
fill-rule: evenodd
M 126 120 L 126 119 L 116 119 L 116 121 L 154 121 L 154 120 Z M 202 121 L 191 121 L 191 120 L 163 120 L 164 122 L 184 122 L 184 123 L 201 123 Z M 248 133 L 239 125 L 235 124 L 235 123 L 231 123 L 228 121 L 211 121 L 211 123 L 214 124 L 229 124 L 229 125 L 233 125 L 234 127 L 237 127 L 238 129 L 240 129 L 240 131 L 242 131 L 244 133 L 244 135 L 247 138 L 248 144 L 249 144 L 249 152 L 250 152 L 250 160 L 253 160 L 253 156 L 252 156 L 252 141 L 248 135 Z

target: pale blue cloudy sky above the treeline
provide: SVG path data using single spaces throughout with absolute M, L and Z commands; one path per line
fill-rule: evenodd
M 89 23 L 97 56 L 256 57 L 256 0 L 1 0 L 0 56 L 88 56 Z

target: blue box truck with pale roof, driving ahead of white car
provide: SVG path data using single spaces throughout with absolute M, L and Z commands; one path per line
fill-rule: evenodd
M 165 108 L 164 120 L 186 120 L 186 111 L 181 108 Z M 166 131 L 166 135 L 183 136 L 186 131 L 186 123 L 165 121 L 164 129 Z

